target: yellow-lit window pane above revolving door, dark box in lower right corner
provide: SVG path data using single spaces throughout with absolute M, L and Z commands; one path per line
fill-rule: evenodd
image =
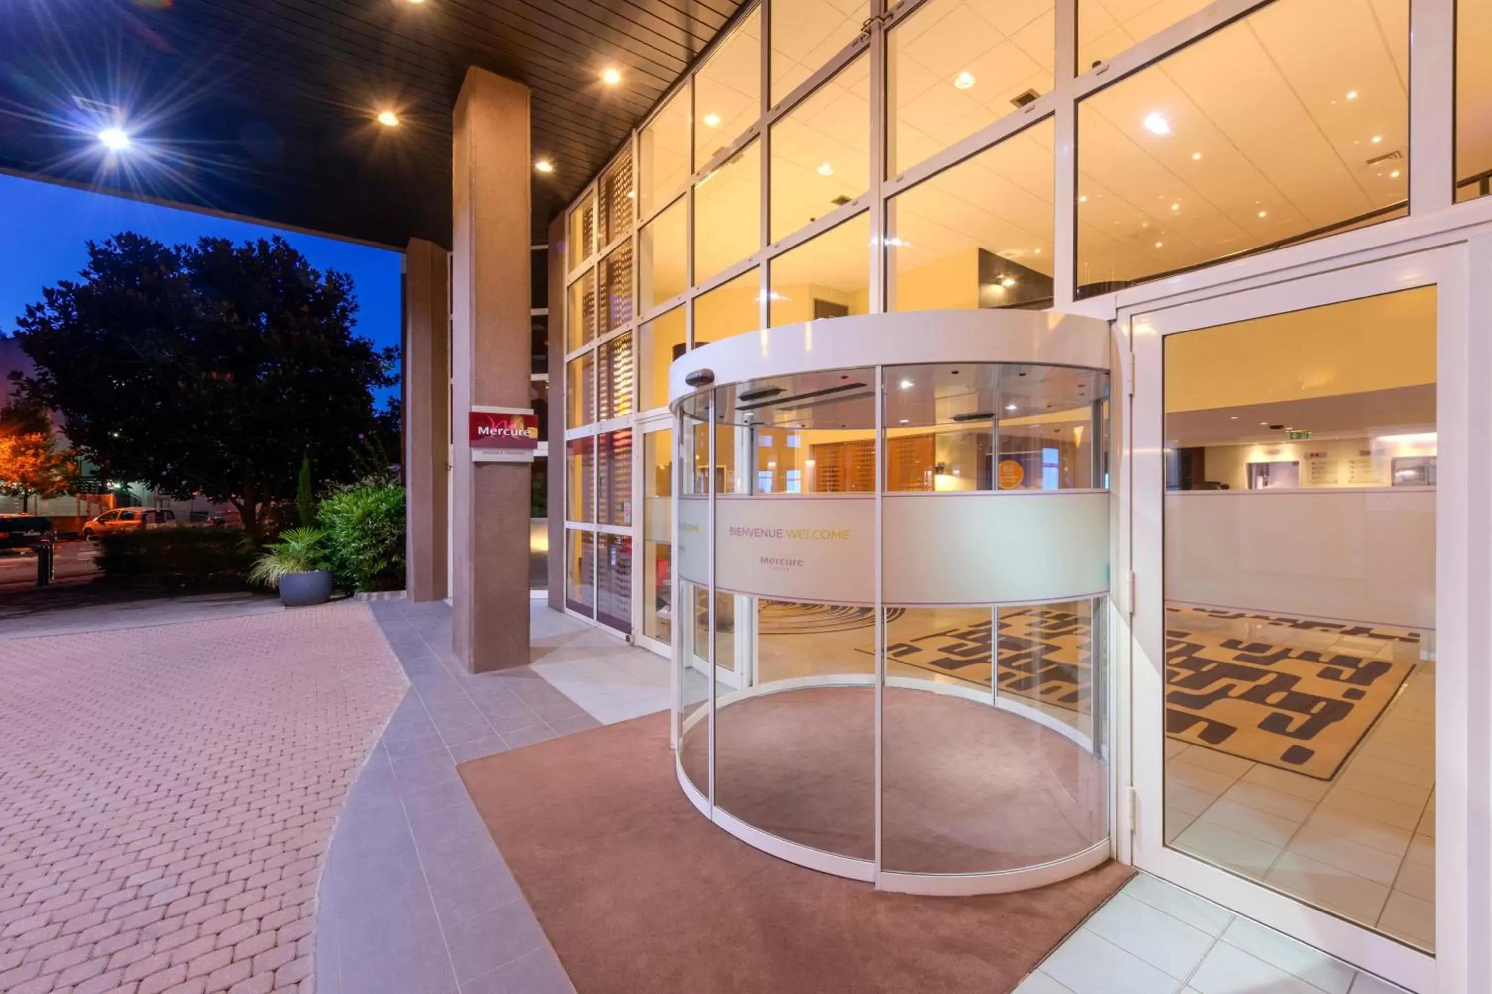
M 1053 131 L 1047 119 L 891 200 L 888 310 L 1050 304 Z

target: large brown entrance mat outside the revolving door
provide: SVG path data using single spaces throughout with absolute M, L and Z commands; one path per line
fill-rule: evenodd
M 460 772 L 579 994 L 1001 994 L 1131 875 L 913 897 L 785 863 L 685 799 L 665 712 Z

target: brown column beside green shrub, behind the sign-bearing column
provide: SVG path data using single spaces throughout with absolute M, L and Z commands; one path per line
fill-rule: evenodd
M 410 601 L 445 601 L 451 319 L 446 250 L 412 238 L 404 249 L 404 571 Z

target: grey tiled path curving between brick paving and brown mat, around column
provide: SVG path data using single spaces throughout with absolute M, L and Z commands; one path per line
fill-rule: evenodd
M 319 994 L 573 991 L 455 767 L 662 708 L 667 663 L 534 604 L 534 665 L 473 677 L 451 657 L 445 604 L 370 607 L 412 687 L 337 823 Z M 662 690 L 643 683 L 659 674 Z

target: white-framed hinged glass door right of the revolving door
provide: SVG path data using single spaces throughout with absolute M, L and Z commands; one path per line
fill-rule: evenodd
M 1134 861 L 1420 991 L 1464 842 L 1435 799 L 1450 252 L 1120 316 Z

